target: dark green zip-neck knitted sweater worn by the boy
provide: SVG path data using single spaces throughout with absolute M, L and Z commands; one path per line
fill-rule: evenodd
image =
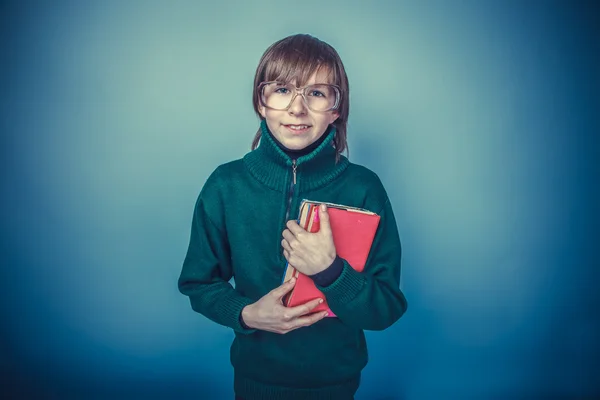
M 335 129 L 313 152 L 291 160 L 262 122 L 259 147 L 219 166 L 194 208 L 179 290 L 192 309 L 235 332 L 234 389 L 245 399 L 351 399 L 367 364 L 364 330 L 383 330 L 406 311 L 399 289 L 401 247 L 381 181 L 341 156 Z M 296 167 L 296 184 L 293 175 Z M 341 275 L 319 289 L 337 318 L 281 335 L 245 329 L 242 309 L 281 285 L 281 234 L 302 199 L 365 208 L 381 216 L 362 273 L 345 260 Z M 235 288 L 229 283 L 234 278 Z

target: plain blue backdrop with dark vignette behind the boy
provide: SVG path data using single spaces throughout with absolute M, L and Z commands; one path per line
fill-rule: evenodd
M 177 291 L 191 213 L 249 151 L 263 51 L 311 33 L 404 247 L 409 309 L 367 333 L 357 399 L 600 395 L 598 11 L 2 2 L 2 390 L 232 398 L 232 332 Z

